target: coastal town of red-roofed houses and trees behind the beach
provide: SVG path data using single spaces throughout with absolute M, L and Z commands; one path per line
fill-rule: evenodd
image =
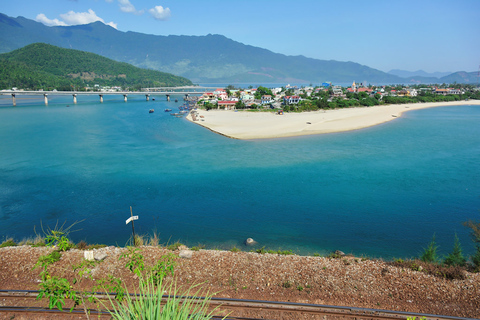
M 391 103 L 442 102 L 478 98 L 480 91 L 473 86 L 367 86 L 352 83 L 342 87 L 323 83 L 321 86 L 266 88 L 259 86 L 236 89 L 230 85 L 205 92 L 196 98 L 197 105 L 209 109 L 286 109 L 312 111 L 351 106 L 373 106 Z

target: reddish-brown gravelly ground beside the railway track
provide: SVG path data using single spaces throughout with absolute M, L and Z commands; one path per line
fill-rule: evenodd
M 180 248 L 182 249 L 182 248 Z M 183 248 L 186 249 L 186 248 Z M 0 249 L 0 289 L 37 290 L 40 268 L 32 270 L 38 258 L 50 253 L 47 247 L 6 247 Z M 91 289 L 96 280 L 113 275 L 129 287 L 138 282 L 121 258 L 126 248 L 106 247 L 94 251 L 104 260 L 91 268 L 91 278 L 79 275 L 72 266 L 84 259 L 84 251 L 62 253 L 49 273 L 82 279 L 76 289 Z M 217 297 L 289 301 L 437 315 L 479 318 L 480 274 L 461 271 L 463 279 L 434 276 L 421 266 L 355 257 L 310 257 L 217 250 L 177 250 L 140 247 L 146 266 L 162 255 L 175 255 L 175 276 L 179 285 L 202 283 Z M 180 254 L 182 252 L 182 254 Z M 180 257 L 183 256 L 183 257 Z M 414 271 L 416 269 L 417 271 Z M 434 272 L 433 272 L 434 273 Z M 1 302 L 1 301 L 0 301 Z M 5 301 L 1 302 L 5 304 Z M 238 315 L 237 315 L 238 316 Z M 245 316 L 245 315 L 242 315 Z M 256 315 L 249 314 L 250 317 Z M 258 315 L 257 315 L 258 316 Z

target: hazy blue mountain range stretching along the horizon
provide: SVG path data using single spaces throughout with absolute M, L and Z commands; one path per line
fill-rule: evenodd
M 440 78 L 402 77 L 355 62 L 286 56 L 221 35 L 156 36 L 121 32 L 101 22 L 47 27 L 23 17 L 0 14 L 0 53 L 31 43 L 96 53 L 104 57 L 186 77 L 194 83 L 476 83 L 476 72 Z M 399 62 L 400 63 L 400 62 Z M 392 70 L 393 71 L 393 70 Z

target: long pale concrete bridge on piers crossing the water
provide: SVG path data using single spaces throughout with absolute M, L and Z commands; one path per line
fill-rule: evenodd
M 22 90 L 2 90 L 0 94 L 11 95 L 13 106 L 17 105 L 17 96 L 29 95 L 29 96 L 43 96 L 45 105 L 48 105 L 48 96 L 66 96 L 71 95 L 73 103 L 77 103 L 77 97 L 79 96 L 92 96 L 98 95 L 100 102 L 103 103 L 103 96 L 120 95 L 123 96 L 123 100 L 127 102 L 129 95 L 144 95 L 145 99 L 150 100 L 150 95 L 165 95 L 167 101 L 170 101 L 171 95 L 184 95 L 187 99 L 190 95 L 200 95 L 208 91 L 213 91 L 216 88 L 212 87 L 161 87 L 161 88 L 145 88 L 143 91 L 22 91 Z

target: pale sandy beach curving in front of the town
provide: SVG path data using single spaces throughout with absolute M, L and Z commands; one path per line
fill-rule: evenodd
M 200 110 L 198 121 L 187 119 L 213 132 L 234 139 L 271 139 L 351 131 L 398 119 L 410 110 L 433 107 L 480 105 L 479 100 L 382 105 L 303 113 Z

